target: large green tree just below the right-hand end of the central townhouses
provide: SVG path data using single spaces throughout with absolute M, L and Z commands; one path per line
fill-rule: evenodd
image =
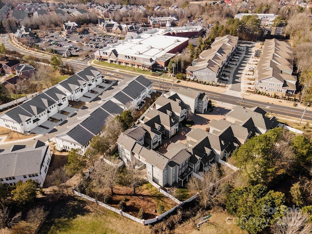
M 278 169 L 291 167 L 294 162 L 292 148 L 289 145 L 287 130 L 274 128 L 266 134 L 248 139 L 232 154 L 244 180 L 255 185 L 269 182 Z

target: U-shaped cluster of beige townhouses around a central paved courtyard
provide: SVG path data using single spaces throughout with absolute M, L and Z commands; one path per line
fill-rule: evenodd
M 167 153 L 161 154 L 157 149 L 163 139 L 178 132 L 179 122 L 190 108 L 182 98 L 174 104 L 177 98 L 173 96 L 169 96 L 167 102 L 164 97 L 158 98 L 139 123 L 117 140 L 124 163 L 137 166 L 144 163 L 149 181 L 163 187 L 183 186 L 193 173 L 209 170 L 213 162 L 230 156 L 249 138 L 279 126 L 279 122 L 274 117 L 266 117 L 261 108 L 234 107 L 225 120 L 212 120 L 209 132 L 193 129 L 186 134 L 186 144 L 171 143 Z

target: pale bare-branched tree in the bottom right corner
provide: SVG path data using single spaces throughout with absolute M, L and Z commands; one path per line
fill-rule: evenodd
M 312 223 L 309 215 L 301 211 L 288 212 L 273 225 L 274 234 L 310 234 Z

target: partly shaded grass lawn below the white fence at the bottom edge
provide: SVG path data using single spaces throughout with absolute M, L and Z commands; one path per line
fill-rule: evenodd
M 78 197 L 59 202 L 39 234 L 146 234 L 147 226 Z

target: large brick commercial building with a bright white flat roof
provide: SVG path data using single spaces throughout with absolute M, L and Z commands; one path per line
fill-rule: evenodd
M 95 59 L 146 70 L 165 70 L 169 60 L 188 46 L 189 39 L 155 33 L 153 30 L 133 33 L 122 42 L 99 49 Z

